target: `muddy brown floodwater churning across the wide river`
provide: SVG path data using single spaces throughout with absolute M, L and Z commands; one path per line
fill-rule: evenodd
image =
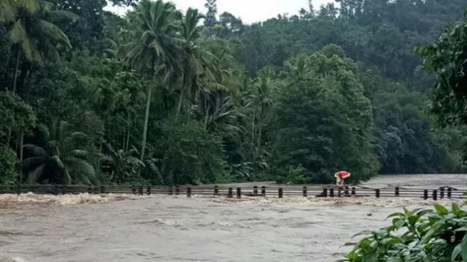
M 466 188 L 465 175 L 383 176 L 368 187 Z M 449 204 L 448 200 L 441 201 Z M 335 261 L 405 198 L 0 196 L 0 261 Z

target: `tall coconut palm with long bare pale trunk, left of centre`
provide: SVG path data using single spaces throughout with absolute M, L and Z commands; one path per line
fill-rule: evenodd
M 158 77 L 159 81 L 167 81 L 168 75 L 174 72 L 174 60 L 181 47 L 181 39 L 177 35 L 180 19 L 181 14 L 170 2 L 141 1 L 135 12 L 130 14 L 134 35 L 131 42 L 123 47 L 128 63 L 153 80 Z M 153 88 L 148 86 L 146 90 L 141 160 L 145 158 Z

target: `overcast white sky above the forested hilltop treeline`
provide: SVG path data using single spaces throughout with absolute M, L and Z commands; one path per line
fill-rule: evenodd
M 206 0 L 172 0 L 181 10 L 188 7 L 195 7 L 205 13 L 204 4 Z M 313 0 L 314 8 L 317 9 L 322 4 L 333 3 L 333 0 Z M 271 17 L 276 17 L 278 13 L 298 13 L 301 8 L 307 8 L 307 0 L 217 0 L 219 13 L 229 12 L 235 16 L 240 16 L 243 22 L 260 22 Z M 124 14 L 123 8 L 108 6 L 107 10 Z

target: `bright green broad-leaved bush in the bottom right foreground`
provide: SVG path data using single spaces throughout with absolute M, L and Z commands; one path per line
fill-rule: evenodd
M 342 261 L 465 261 L 467 260 L 467 212 L 453 204 L 451 210 L 435 204 L 435 210 L 404 208 L 391 214 L 392 224 L 354 244 Z

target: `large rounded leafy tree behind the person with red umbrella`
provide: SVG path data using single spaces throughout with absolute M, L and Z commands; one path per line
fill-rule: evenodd
M 330 182 L 336 170 L 354 179 L 377 171 L 371 103 L 348 58 L 318 53 L 287 62 L 274 105 L 274 150 L 281 167 L 303 166 L 313 182 Z

